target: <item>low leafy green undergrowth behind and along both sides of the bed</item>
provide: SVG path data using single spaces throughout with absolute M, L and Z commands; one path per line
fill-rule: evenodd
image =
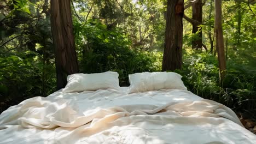
M 74 21 L 74 33 L 82 73 L 117 71 L 120 86 L 129 86 L 129 74 L 161 71 L 162 52 L 131 49 L 130 39 L 120 28 L 108 29 L 97 20 L 86 23 Z M 183 68 L 176 72 L 183 76 L 189 91 L 256 118 L 255 57 L 243 51 L 246 50 L 230 52 L 235 54 L 228 57 L 222 84 L 219 83 L 217 57 L 208 52 L 185 49 Z M 7 103 L 10 99 L 19 103 L 25 98 L 46 96 L 54 91 L 53 62 L 38 63 L 38 58 L 36 54 L 0 58 L 0 102 Z

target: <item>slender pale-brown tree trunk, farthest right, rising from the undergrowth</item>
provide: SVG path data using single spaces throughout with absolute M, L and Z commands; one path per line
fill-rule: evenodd
M 226 60 L 224 50 L 224 38 L 222 31 L 222 1 L 215 0 L 215 33 L 216 33 L 216 49 L 219 61 L 219 79 L 222 85 L 226 73 Z

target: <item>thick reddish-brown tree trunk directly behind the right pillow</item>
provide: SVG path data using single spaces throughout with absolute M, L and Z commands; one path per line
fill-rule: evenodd
M 168 0 L 162 71 L 182 68 L 184 0 Z

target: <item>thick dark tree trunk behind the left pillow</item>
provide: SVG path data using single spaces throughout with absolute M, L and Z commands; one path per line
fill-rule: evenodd
M 55 47 L 57 89 L 66 86 L 67 75 L 78 73 L 69 0 L 51 0 L 51 32 Z

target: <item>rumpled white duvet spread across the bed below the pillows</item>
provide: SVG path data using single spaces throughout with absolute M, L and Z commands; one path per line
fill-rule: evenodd
M 231 109 L 189 91 L 60 90 L 4 111 L 0 143 L 256 143 L 256 136 Z

